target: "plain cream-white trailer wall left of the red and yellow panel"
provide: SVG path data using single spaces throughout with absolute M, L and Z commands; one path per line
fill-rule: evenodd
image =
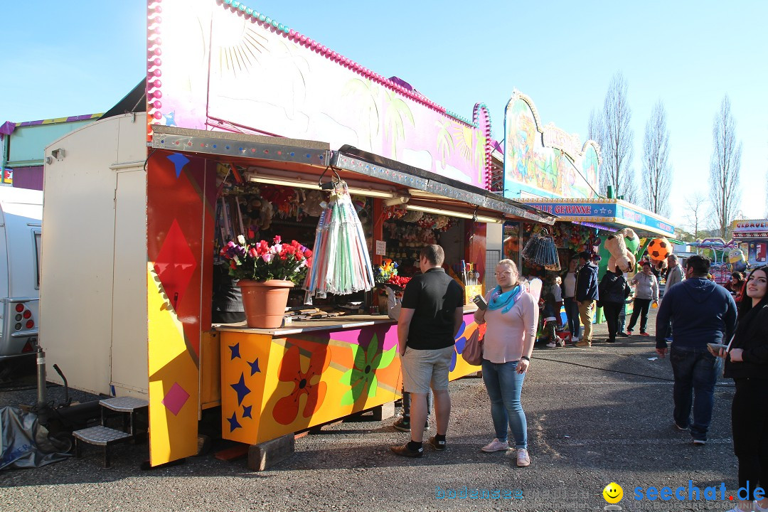
M 45 149 L 40 344 L 83 391 L 148 396 L 146 133 L 124 114 Z

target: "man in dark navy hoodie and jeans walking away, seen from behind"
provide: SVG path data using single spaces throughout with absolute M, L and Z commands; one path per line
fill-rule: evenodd
M 720 358 L 710 354 L 707 343 L 727 344 L 736 325 L 736 302 L 727 289 L 707 279 L 709 271 L 709 259 L 688 258 L 686 280 L 667 290 L 656 317 L 656 352 L 662 358 L 667 355 L 666 338 L 672 322 L 674 424 L 680 430 L 690 427 L 694 444 L 707 442 L 715 383 L 722 372 Z

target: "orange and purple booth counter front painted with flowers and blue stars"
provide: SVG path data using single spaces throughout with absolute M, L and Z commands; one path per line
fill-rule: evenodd
M 478 371 L 460 353 L 478 326 L 462 325 L 450 378 Z M 221 333 L 223 437 L 257 443 L 399 398 L 397 326 L 318 331 L 285 338 Z

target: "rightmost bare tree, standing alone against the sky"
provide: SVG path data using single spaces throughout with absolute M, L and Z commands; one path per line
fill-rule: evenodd
M 715 115 L 712 127 L 712 161 L 710 163 L 710 198 L 715 226 L 723 239 L 728 238 L 730 223 L 739 209 L 741 193 L 741 142 L 736 140 L 736 121 L 730 112 L 726 94 Z

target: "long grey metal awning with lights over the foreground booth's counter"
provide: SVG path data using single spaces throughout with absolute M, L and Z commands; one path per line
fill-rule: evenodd
M 204 155 L 247 167 L 249 179 L 293 187 L 322 188 L 329 169 L 351 193 L 381 197 L 386 204 L 480 222 L 525 219 L 552 224 L 557 216 L 479 187 L 345 145 L 330 150 L 313 140 L 153 127 L 151 147 Z

